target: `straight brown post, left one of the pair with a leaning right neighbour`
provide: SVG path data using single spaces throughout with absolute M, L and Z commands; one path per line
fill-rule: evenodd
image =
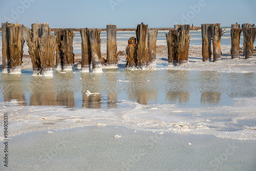
M 210 60 L 211 58 L 211 25 L 202 24 L 202 59 L 203 61 Z

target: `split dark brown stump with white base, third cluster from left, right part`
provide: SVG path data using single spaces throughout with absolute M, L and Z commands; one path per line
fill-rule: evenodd
M 64 30 L 63 39 L 61 39 L 60 51 L 63 54 L 63 70 L 73 70 L 74 53 L 73 38 L 75 33 L 72 30 Z

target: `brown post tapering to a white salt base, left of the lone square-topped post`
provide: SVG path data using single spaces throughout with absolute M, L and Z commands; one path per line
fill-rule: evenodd
M 101 66 L 101 51 L 100 51 L 100 31 L 89 30 L 89 39 L 91 44 L 91 52 L 92 52 L 92 65 L 93 71 L 92 72 L 102 72 Z

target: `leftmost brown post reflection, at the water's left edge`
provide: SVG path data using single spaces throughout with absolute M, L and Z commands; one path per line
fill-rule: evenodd
M 23 93 L 22 79 L 17 75 L 2 75 L 4 101 L 16 99 L 20 101 L 19 105 L 27 105 Z

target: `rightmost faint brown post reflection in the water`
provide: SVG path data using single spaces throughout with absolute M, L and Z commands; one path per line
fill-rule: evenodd
M 219 104 L 221 93 L 218 92 L 202 92 L 201 103 Z

